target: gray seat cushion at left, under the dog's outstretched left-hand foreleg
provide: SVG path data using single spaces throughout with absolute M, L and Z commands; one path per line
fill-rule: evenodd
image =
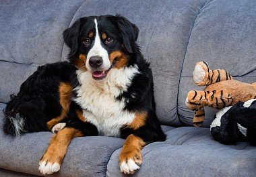
M 20 138 L 6 135 L 2 129 L 4 107 L 5 104 L 0 103 L 0 169 L 40 175 L 38 162 L 53 134 L 27 133 Z M 162 126 L 162 129 L 170 131 L 174 127 Z M 121 138 L 103 136 L 73 139 L 61 171 L 54 176 L 105 176 L 110 156 L 123 146 L 123 141 Z

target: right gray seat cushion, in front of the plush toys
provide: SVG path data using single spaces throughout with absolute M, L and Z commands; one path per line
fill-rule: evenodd
M 256 148 L 248 143 L 222 145 L 208 128 L 179 127 L 166 134 L 166 141 L 143 148 L 142 166 L 133 176 L 255 176 Z M 120 151 L 111 156 L 107 176 L 125 176 Z

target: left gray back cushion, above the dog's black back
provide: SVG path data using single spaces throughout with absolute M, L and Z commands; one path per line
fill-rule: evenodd
M 1 1 L 0 102 L 17 93 L 36 66 L 61 60 L 62 32 L 83 2 Z

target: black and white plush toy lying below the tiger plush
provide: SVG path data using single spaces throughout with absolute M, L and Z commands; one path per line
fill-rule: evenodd
M 221 109 L 210 129 L 214 139 L 220 143 L 249 141 L 256 145 L 256 99 Z

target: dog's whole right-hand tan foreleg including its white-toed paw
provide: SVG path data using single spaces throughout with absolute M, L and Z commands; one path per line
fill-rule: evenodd
M 146 145 L 140 137 L 129 135 L 119 155 L 120 170 L 125 174 L 133 174 L 142 164 L 141 150 Z

